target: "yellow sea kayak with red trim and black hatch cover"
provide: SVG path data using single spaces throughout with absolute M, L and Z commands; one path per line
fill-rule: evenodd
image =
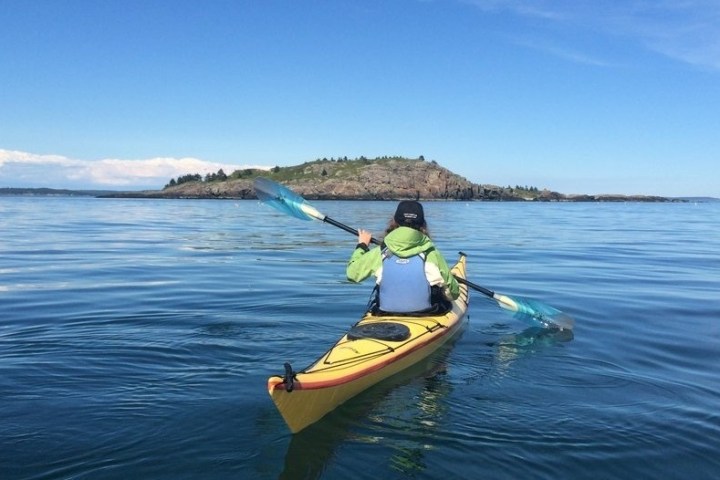
M 465 278 L 465 256 L 452 268 Z M 467 285 L 452 309 L 439 315 L 366 314 L 312 365 L 268 379 L 268 392 L 293 433 L 320 420 L 350 398 L 435 352 L 463 325 Z

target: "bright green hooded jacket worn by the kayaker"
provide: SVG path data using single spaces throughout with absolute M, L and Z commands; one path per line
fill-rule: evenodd
M 425 261 L 437 265 L 440 270 L 447 293 L 453 299 L 460 295 L 460 287 L 450 273 L 450 267 L 427 235 L 414 228 L 398 227 L 385 236 L 384 243 L 394 255 L 401 258 L 412 257 L 424 252 L 427 255 Z M 375 274 L 382 267 L 382 250 L 382 248 L 368 250 L 358 246 L 348 262 L 348 280 L 362 282 L 370 275 Z

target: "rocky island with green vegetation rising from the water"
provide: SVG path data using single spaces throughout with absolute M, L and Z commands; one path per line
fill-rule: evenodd
M 185 175 L 162 190 L 122 192 L 104 197 L 254 199 L 253 181 L 267 177 L 309 200 L 479 200 L 479 201 L 672 201 L 644 195 L 565 195 L 529 186 L 477 184 L 423 157 L 318 159 L 270 170 L 222 170 L 205 177 Z

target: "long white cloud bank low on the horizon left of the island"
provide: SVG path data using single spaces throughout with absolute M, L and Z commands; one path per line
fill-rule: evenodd
M 51 188 L 161 188 L 181 175 L 217 172 L 230 174 L 267 166 L 210 162 L 198 158 L 78 160 L 62 155 L 39 155 L 0 149 L 0 187 Z

